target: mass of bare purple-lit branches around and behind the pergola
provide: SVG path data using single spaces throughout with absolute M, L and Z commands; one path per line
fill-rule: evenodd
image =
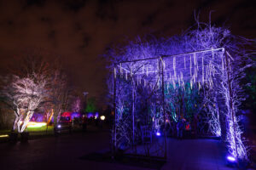
M 195 30 L 181 36 L 137 38 L 111 48 L 108 87 L 116 109 L 115 147 L 123 135 L 126 145 L 139 144 L 137 119 L 153 132 L 166 133 L 166 118 L 175 121 L 204 112 L 210 132 L 222 136 L 230 155 L 247 160 L 237 118 L 245 99 L 241 79 L 252 65 L 247 44 L 249 40 L 224 27 L 197 22 Z

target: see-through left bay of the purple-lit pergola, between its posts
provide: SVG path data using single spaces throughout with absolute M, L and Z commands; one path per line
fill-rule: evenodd
M 158 58 L 116 67 L 116 146 L 126 153 L 164 156 L 160 67 Z

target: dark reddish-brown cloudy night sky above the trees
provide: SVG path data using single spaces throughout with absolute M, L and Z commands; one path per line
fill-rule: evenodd
M 61 56 L 73 84 L 90 96 L 104 91 L 104 62 L 99 55 L 111 43 L 145 34 L 171 37 L 201 21 L 228 26 L 233 34 L 256 37 L 253 0 L 213 1 L 0 1 L 0 71 L 27 48 Z M 55 56 L 52 55 L 52 56 Z

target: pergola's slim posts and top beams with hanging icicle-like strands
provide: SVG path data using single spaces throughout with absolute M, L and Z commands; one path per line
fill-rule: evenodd
M 210 56 L 212 55 L 212 56 Z M 193 59 L 194 58 L 194 59 Z M 186 60 L 187 59 L 187 60 Z M 182 63 L 183 60 L 183 63 Z M 189 61 L 188 61 L 189 60 Z M 132 146 L 136 147 L 136 139 L 135 139 L 135 86 L 138 84 L 142 85 L 142 81 L 144 82 L 144 87 L 151 87 L 153 90 L 158 86 L 160 89 L 160 100 L 161 100 L 161 109 L 163 114 L 164 122 L 164 154 L 160 156 L 166 159 L 166 94 L 165 91 L 166 82 L 172 83 L 175 87 L 178 84 L 179 87 L 184 87 L 184 82 L 189 82 L 191 89 L 193 84 L 198 84 L 198 87 L 207 86 L 208 88 L 212 88 L 212 85 L 216 80 L 221 79 L 221 72 L 218 70 L 224 71 L 224 74 L 227 76 L 227 84 L 228 91 L 226 91 L 227 98 L 229 100 L 229 108 L 232 122 L 233 133 L 231 135 L 234 136 L 235 139 L 235 150 L 236 150 L 236 159 L 238 159 L 239 153 L 237 149 L 237 136 L 236 136 L 236 113 L 233 108 L 233 100 L 232 100 L 232 88 L 230 85 L 230 60 L 232 57 L 230 54 L 225 51 L 224 48 L 212 48 L 202 51 L 195 51 L 187 54 L 176 54 L 176 55 L 161 55 L 153 58 L 146 59 L 137 59 L 131 61 L 124 61 L 116 63 L 113 67 L 113 107 L 114 107 L 114 122 L 113 122 L 113 141 L 112 141 L 112 150 L 113 154 L 118 149 L 117 144 L 117 124 L 118 124 L 118 106 L 117 99 L 119 99 L 119 95 L 117 94 L 117 88 L 119 86 L 120 80 L 126 80 L 127 82 L 131 82 L 132 92 L 131 92 L 131 122 L 132 122 Z M 157 61 L 157 62 L 154 62 Z M 194 62 L 193 62 L 194 61 Z M 145 68 L 145 65 L 148 64 L 148 67 Z M 205 65 L 206 64 L 206 65 Z M 152 66 L 153 65 L 153 66 Z M 183 66 L 181 66 L 183 65 Z M 192 70 L 192 71 L 191 71 Z M 179 72 L 178 72 L 179 71 Z M 150 76 L 150 74 L 154 74 L 151 82 L 145 79 L 145 77 Z M 170 74 L 170 77 L 168 77 Z M 219 74 L 219 75 L 218 75 Z M 140 76 L 141 75 L 141 76 Z M 130 78 L 130 79 L 129 79 Z M 137 78 L 137 81 L 136 81 Z M 128 79 L 130 81 L 128 81 Z M 154 82 L 154 83 L 152 83 Z M 166 84 L 165 84 L 166 83 Z M 221 82 L 219 82 L 221 83 Z M 152 90 L 152 93 L 153 93 Z M 229 116 L 229 114 L 226 114 Z M 241 140 L 241 139 L 239 139 Z M 135 153 L 137 154 L 137 152 Z M 139 154 L 138 154 L 139 155 Z

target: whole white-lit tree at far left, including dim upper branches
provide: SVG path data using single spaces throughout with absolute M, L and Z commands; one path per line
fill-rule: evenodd
M 19 65 L 15 65 L 19 63 Z M 52 71 L 42 54 L 31 52 L 10 67 L 1 78 L 1 101 L 14 111 L 13 130 L 22 133 L 35 110 L 49 102 Z

